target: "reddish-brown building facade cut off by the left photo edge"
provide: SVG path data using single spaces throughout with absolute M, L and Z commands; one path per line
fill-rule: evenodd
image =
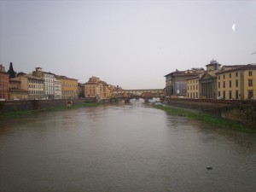
M 9 74 L 0 65 L 0 99 L 9 100 Z

